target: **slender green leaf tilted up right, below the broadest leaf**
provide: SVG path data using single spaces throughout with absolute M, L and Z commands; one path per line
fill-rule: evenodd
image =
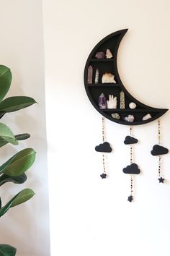
M 11 207 L 14 207 L 16 205 L 22 204 L 23 202 L 26 202 L 34 195 L 35 195 L 35 192 L 33 192 L 32 189 L 23 189 L 21 192 L 19 192 L 17 197 L 14 198 Z

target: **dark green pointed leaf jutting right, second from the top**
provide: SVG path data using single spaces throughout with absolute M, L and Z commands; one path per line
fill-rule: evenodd
M 25 96 L 16 96 L 6 98 L 4 101 L 0 103 L 0 111 L 1 112 L 13 112 L 22 108 L 27 108 L 27 106 L 31 106 L 36 103 L 33 98 L 25 97 Z

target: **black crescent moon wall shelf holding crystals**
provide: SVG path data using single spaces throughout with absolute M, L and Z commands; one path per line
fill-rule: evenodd
M 120 45 L 120 42 L 125 35 L 128 29 L 119 30 L 115 33 L 107 35 L 107 37 L 103 38 L 97 46 L 93 48 L 89 58 L 86 61 L 86 66 L 84 69 L 84 85 L 86 89 L 86 93 L 89 97 L 94 108 L 99 111 L 102 116 L 105 116 L 107 119 L 111 121 L 115 121 L 118 124 L 125 124 L 125 125 L 139 125 L 139 124 L 146 124 L 153 120 L 158 119 L 160 116 L 166 113 L 168 109 L 166 108 L 153 108 L 151 106 L 147 106 L 140 101 L 137 101 L 133 98 L 130 93 L 125 89 L 125 86 L 122 84 L 120 80 L 120 76 L 117 70 L 117 51 Z M 112 52 L 113 58 L 111 59 L 97 59 L 95 55 L 97 52 L 106 52 L 107 48 Z M 93 67 L 93 81 L 91 84 L 87 83 L 88 77 L 88 68 L 89 66 Z M 95 84 L 95 71 L 99 69 L 99 83 Z M 109 72 L 115 75 L 116 83 L 101 83 L 102 81 L 102 74 L 105 72 Z M 120 92 L 123 91 L 125 93 L 125 109 L 116 108 L 116 109 L 100 109 L 98 106 L 99 95 L 104 93 L 104 95 L 109 98 L 109 95 L 117 96 L 117 106 L 120 104 Z M 129 104 L 133 102 L 137 105 L 135 109 L 131 109 Z M 112 118 L 112 114 L 117 113 L 120 115 L 120 119 Z M 143 121 L 143 116 L 146 114 L 151 114 L 151 118 Z M 135 119 L 133 122 L 125 121 L 125 116 L 133 115 Z

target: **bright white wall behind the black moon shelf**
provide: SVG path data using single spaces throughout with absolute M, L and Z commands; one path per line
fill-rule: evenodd
M 50 170 L 51 255 L 169 256 L 169 155 L 166 184 L 158 184 L 157 122 L 135 127 L 135 200 L 127 201 L 129 163 L 123 144 L 128 127 L 107 120 L 108 179 L 94 146 L 102 117 L 84 90 L 91 49 L 104 36 L 129 28 L 118 53 L 122 82 L 139 101 L 169 108 L 170 2 L 167 0 L 44 0 L 45 93 Z M 162 143 L 170 148 L 169 113 L 161 118 Z

